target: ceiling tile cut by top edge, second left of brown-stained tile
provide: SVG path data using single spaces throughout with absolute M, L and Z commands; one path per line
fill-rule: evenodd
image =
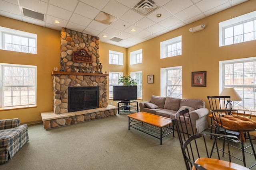
M 71 12 L 74 11 L 77 3 L 78 3 L 78 0 L 49 0 L 49 4 L 58 6 L 60 8 L 63 8 Z

